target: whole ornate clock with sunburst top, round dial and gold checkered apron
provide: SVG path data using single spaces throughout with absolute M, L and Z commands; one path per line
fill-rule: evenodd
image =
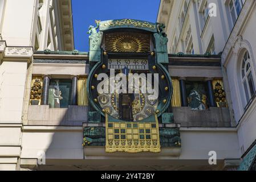
M 131 19 L 96 23 L 87 89 L 89 115 L 101 119 L 88 122 L 105 123 L 106 152 L 160 152 L 159 119 L 172 97 L 164 26 Z

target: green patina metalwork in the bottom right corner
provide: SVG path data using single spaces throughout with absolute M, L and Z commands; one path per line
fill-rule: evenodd
M 256 144 L 255 146 L 250 150 L 250 152 L 243 158 L 243 162 L 238 168 L 238 171 L 250 171 L 251 167 L 253 167 L 253 164 L 256 160 Z

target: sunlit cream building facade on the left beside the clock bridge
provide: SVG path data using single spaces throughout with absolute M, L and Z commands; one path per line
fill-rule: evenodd
M 70 1 L 0 1 L 1 169 L 18 169 L 33 52 L 74 49 L 72 32 Z

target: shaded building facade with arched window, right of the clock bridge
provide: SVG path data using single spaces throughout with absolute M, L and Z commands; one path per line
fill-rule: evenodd
M 256 138 L 254 19 L 255 1 L 248 0 L 161 1 L 157 19 L 166 24 L 170 53 L 221 55 L 224 88 L 242 158 L 253 153 Z

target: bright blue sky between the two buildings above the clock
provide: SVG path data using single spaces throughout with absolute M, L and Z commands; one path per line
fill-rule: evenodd
M 139 19 L 156 22 L 160 0 L 72 0 L 75 49 L 89 51 L 88 27 L 96 20 Z

